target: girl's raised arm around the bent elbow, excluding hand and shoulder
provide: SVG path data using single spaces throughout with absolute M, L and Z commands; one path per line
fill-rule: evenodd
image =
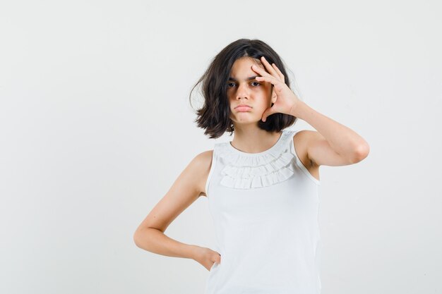
M 306 139 L 306 152 L 311 164 L 343 166 L 356 164 L 368 156 L 369 144 L 361 136 L 345 125 L 320 114 L 304 102 L 295 104 L 290 114 L 318 130 L 298 132 L 299 136 Z

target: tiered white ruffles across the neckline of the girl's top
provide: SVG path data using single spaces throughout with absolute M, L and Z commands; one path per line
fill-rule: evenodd
M 285 131 L 273 147 L 260 154 L 232 150 L 230 142 L 219 146 L 219 156 L 225 160 L 220 185 L 236 189 L 263 188 L 287 180 L 294 174 L 294 155 L 287 140 L 293 133 Z

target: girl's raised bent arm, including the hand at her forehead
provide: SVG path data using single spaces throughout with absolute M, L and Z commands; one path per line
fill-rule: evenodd
M 267 71 L 259 66 L 252 66 L 252 70 L 261 75 L 257 76 L 256 80 L 271 82 L 275 90 L 272 95 L 277 97 L 273 106 L 263 112 L 262 120 L 265 121 L 268 116 L 275 113 L 290 114 L 301 118 L 318 130 L 317 132 L 309 130 L 298 132 L 306 139 L 302 141 L 305 142 L 309 166 L 316 168 L 320 165 L 355 164 L 367 157 L 369 144 L 361 136 L 299 100 L 285 84 L 285 77 L 275 63 L 270 65 L 264 56 L 261 56 L 261 62 Z

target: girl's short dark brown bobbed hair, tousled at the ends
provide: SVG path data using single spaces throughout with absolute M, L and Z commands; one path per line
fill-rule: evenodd
M 290 87 L 287 72 L 280 56 L 268 44 L 259 39 L 238 39 L 228 44 L 213 58 L 205 73 L 191 90 L 192 93 L 193 89 L 202 82 L 204 104 L 201 109 L 196 111 L 197 118 L 194 122 L 197 123 L 198 128 L 203 128 L 204 134 L 211 139 L 221 137 L 225 132 L 230 132 L 232 135 L 234 131 L 232 119 L 229 117 L 227 81 L 233 63 L 245 56 L 256 59 L 258 63 L 261 63 L 261 56 L 264 56 L 270 64 L 275 63 L 285 77 L 285 84 Z M 297 117 L 295 116 L 277 113 L 268 116 L 265 122 L 258 121 L 258 127 L 269 132 L 280 132 L 296 121 Z

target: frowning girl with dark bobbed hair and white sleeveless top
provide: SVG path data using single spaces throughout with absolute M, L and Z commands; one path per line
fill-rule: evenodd
M 227 131 L 233 140 L 196 155 L 134 234 L 144 250 L 210 270 L 205 294 L 321 292 L 319 166 L 355 164 L 369 145 L 299 100 L 286 77 L 280 56 L 258 39 L 215 56 L 196 83 L 205 99 L 196 122 L 210 138 Z M 297 118 L 317 131 L 288 128 Z M 164 233 L 200 196 L 219 252 Z

